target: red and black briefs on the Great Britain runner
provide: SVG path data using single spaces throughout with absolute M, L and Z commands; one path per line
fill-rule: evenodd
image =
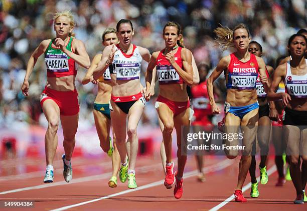
M 129 96 L 111 95 L 111 100 L 126 114 L 129 113 L 130 107 L 132 107 L 137 100 L 140 100 L 145 105 L 145 98 L 141 92 Z M 113 108 L 110 107 L 110 110 L 113 110 Z

